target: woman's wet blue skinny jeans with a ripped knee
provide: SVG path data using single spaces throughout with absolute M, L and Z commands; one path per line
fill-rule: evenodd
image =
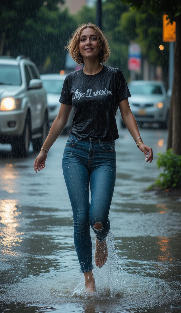
M 100 242 L 110 229 L 108 216 L 116 180 L 115 143 L 92 137 L 82 140 L 70 134 L 62 168 L 73 211 L 75 249 L 80 271 L 85 273 L 93 269 L 90 226 Z M 95 229 L 95 223 L 101 223 L 102 228 Z

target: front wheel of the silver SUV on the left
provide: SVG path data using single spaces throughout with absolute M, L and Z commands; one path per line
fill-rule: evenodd
M 30 117 L 26 116 L 23 134 L 11 142 L 12 153 L 14 156 L 27 157 L 29 153 L 29 143 L 31 138 Z

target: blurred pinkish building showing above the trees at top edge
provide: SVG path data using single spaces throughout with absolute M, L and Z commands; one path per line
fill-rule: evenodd
M 65 0 L 65 4 L 59 3 L 58 6 L 61 11 L 68 7 L 69 12 L 71 14 L 75 14 L 81 10 L 83 5 L 88 5 L 89 7 L 92 7 L 95 3 L 96 0 Z

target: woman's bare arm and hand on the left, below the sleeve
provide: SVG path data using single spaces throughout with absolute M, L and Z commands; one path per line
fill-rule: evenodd
M 50 149 L 50 147 L 53 145 L 53 143 L 61 134 L 65 125 L 67 124 L 71 110 L 72 110 L 72 105 L 66 105 L 64 103 L 61 104 L 59 113 L 50 128 L 49 134 L 42 148 L 46 150 Z M 39 155 L 34 161 L 34 170 L 36 173 L 37 173 L 37 170 L 38 171 L 42 170 L 45 167 L 46 158 L 47 158 L 47 151 L 41 150 Z

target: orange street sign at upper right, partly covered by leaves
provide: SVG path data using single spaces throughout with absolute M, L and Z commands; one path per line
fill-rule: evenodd
M 170 20 L 166 19 L 167 16 L 167 14 L 163 15 L 163 41 L 173 42 L 176 40 L 176 22 L 169 23 Z

